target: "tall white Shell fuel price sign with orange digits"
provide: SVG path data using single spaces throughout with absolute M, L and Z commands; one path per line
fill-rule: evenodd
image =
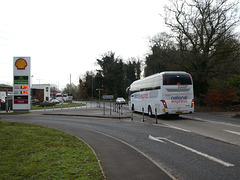
M 13 110 L 29 111 L 31 62 L 30 57 L 13 57 Z

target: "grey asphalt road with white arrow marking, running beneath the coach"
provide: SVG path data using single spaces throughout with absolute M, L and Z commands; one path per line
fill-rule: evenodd
M 89 108 L 90 109 L 90 108 Z M 129 113 L 123 107 L 123 113 Z M 50 116 L 39 113 L 3 120 L 22 121 L 73 133 L 91 130 L 113 137 L 141 152 L 176 179 L 240 179 L 240 120 L 196 115 L 175 119 L 134 113 L 133 120 Z

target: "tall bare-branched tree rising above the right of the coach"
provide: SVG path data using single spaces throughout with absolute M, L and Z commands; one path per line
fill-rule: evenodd
M 240 20 L 238 5 L 230 0 L 173 0 L 165 7 L 165 24 L 175 34 L 180 52 L 175 61 L 189 68 L 202 92 L 207 91 L 209 78 L 231 72 L 226 65 L 239 62 L 234 32 Z

